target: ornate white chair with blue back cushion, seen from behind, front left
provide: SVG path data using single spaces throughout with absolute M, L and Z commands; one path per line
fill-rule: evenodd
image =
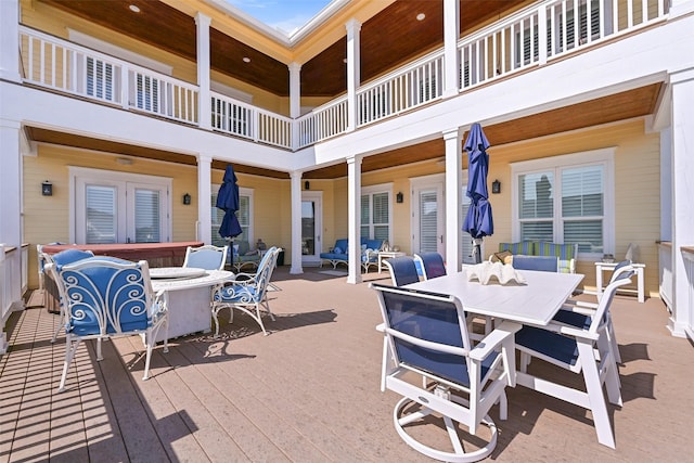
M 154 294 L 145 260 L 129 262 L 113 257 L 90 257 L 73 263 L 49 263 L 47 271 L 55 280 L 65 301 L 65 362 L 59 391 L 79 343 L 98 339 L 97 360 L 102 360 L 103 338 L 139 334 L 146 348 L 144 375 L 150 375 L 152 349 L 162 326 L 168 331 L 168 312 L 160 294 Z M 168 333 L 164 351 L 168 351 Z

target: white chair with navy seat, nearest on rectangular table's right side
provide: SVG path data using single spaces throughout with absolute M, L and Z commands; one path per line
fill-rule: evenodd
M 619 372 L 607 334 L 606 312 L 617 288 L 629 284 L 632 274 L 633 271 L 622 272 L 607 286 L 591 317 L 589 327 L 579 329 L 551 322 L 542 327 L 524 326 L 516 334 L 516 348 L 520 351 L 517 383 L 590 410 L 597 441 L 613 449 L 615 437 L 607 414 L 603 385 L 607 389 L 611 403 L 621 407 L 622 402 Z M 586 390 L 574 389 L 549 378 L 528 374 L 530 357 L 581 374 Z

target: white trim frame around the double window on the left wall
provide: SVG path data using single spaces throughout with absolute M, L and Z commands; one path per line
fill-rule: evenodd
M 127 182 L 127 183 L 146 183 L 166 188 L 169 192 L 166 200 L 166 209 L 162 214 L 166 214 L 166 235 L 170 241 L 172 232 L 171 221 L 171 187 L 174 180 L 170 177 L 147 176 L 144 173 L 118 172 L 114 170 L 91 169 L 88 167 L 68 166 L 69 178 L 69 242 L 77 243 L 77 180 L 80 178 L 95 179 L 104 182 Z

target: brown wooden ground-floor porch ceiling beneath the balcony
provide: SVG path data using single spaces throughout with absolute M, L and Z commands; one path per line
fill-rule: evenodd
M 498 146 L 553 133 L 645 116 L 653 114 L 655 111 L 660 87 L 660 83 L 655 83 L 519 119 L 488 125 L 484 127 L 485 134 L 492 146 Z M 197 164 L 195 156 L 176 152 L 153 150 L 110 140 L 98 140 L 37 127 L 27 127 L 26 132 L 29 140 L 36 142 L 95 150 L 112 153 L 117 156 L 143 157 L 189 166 L 195 166 Z M 367 156 L 362 162 L 362 171 L 369 172 L 411 163 L 438 159 L 444 155 L 444 139 L 439 138 L 375 156 Z M 226 162 L 213 162 L 214 169 L 223 170 L 226 165 Z M 286 172 L 261 169 L 241 163 L 235 163 L 234 169 L 241 173 L 258 175 L 277 179 L 290 178 Z M 334 166 L 323 167 L 304 173 L 305 179 L 336 179 L 346 176 L 346 163 L 339 163 Z

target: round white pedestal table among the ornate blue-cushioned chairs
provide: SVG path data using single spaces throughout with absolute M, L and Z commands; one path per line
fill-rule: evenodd
M 169 311 L 168 338 L 211 331 L 211 287 L 233 279 L 227 270 L 165 267 L 150 269 L 152 290 L 164 291 Z M 164 340 L 159 331 L 157 342 Z

